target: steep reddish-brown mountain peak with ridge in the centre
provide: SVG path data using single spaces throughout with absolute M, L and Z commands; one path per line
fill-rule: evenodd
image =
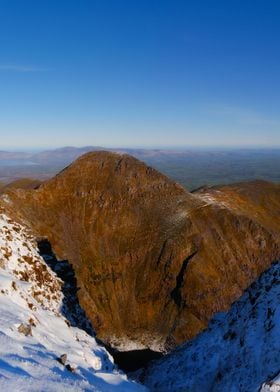
M 193 337 L 280 257 L 279 185 L 192 194 L 128 155 L 86 154 L 2 203 L 73 264 L 97 336 L 119 346 Z

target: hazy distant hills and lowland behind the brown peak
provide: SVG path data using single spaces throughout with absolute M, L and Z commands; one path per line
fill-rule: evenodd
M 90 151 L 127 153 L 189 190 L 203 185 L 262 179 L 280 181 L 280 149 L 104 149 L 65 147 L 38 153 L 0 151 L 0 182 L 22 178 L 46 180 Z

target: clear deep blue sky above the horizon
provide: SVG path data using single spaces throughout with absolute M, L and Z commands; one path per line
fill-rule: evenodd
M 280 2 L 2 0 L 0 149 L 280 146 Z

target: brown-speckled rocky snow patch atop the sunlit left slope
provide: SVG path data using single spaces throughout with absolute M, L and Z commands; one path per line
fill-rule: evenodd
M 38 254 L 28 230 L 5 215 L 0 215 L 0 266 L 1 293 L 13 295 L 18 291 L 30 309 L 41 305 L 59 311 L 62 282 Z

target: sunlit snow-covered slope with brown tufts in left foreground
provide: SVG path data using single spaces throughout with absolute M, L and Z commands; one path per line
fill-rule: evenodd
M 61 304 L 61 281 L 32 235 L 0 214 L 0 390 L 146 390 L 128 381 L 93 337 L 69 326 Z M 57 360 L 63 354 L 64 365 Z

